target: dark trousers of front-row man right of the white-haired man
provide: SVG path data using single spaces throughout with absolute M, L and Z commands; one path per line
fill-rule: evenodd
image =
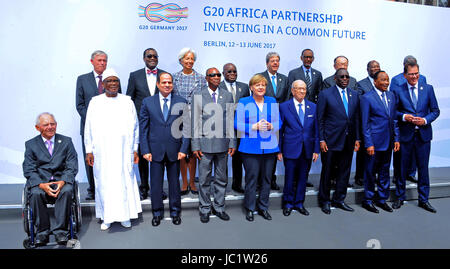
M 333 202 L 344 202 L 352 166 L 354 143 L 345 142 L 341 151 L 328 150 L 321 153 L 322 171 L 320 173 L 319 204 L 330 203 L 330 181 L 333 167 L 336 167 L 336 191 Z

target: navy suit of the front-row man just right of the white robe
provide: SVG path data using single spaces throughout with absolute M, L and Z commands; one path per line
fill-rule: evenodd
M 164 168 L 167 168 L 167 181 L 169 184 L 169 209 L 170 215 L 177 216 L 181 211 L 180 197 L 180 162 L 178 153 L 187 153 L 189 149 L 189 138 L 183 136 L 176 138 L 172 136 L 172 125 L 182 123 L 184 117 L 183 109 L 186 100 L 180 96 L 171 94 L 169 116 L 167 121 L 161 110 L 159 94 L 144 98 L 141 105 L 139 117 L 139 137 L 142 155 L 151 153 L 150 164 L 150 196 L 154 216 L 164 215 L 164 204 L 162 200 Z M 188 113 L 187 113 L 188 114 Z M 186 128 L 180 124 L 180 127 Z M 181 134 L 181 130 L 180 130 Z

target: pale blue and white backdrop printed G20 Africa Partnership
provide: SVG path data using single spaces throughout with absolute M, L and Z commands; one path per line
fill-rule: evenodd
M 358 81 L 367 77 L 370 60 L 392 78 L 413 55 L 441 110 L 432 124 L 430 167 L 450 166 L 448 8 L 383 0 L 24 0 L 2 1 L 0 10 L 0 184 L 25 182 L 24 143 L 38 134 L 36 116 L 44 111 L 55 115 L 58 133 L 72 137 L 77 180 L 86 182 L 76 79 L 93 70 L 91 53 L 103 50 L 125 94 L 130 72 L 144 67 L 142 53 L 150 47 L 158 51 L 158 67 L 171 73 L 182 69 L 178 52 L 190 47 L 197 72 L 232 62 L 245 83 L 266 70 L 271 51 L 287 75 L 301 66 L 301 51 L 312 49 L 312 66 L 324 79 L 335 72 L 334 58 L 345 55 Z M 284 174 L 281 162 L 277 173 Z M 311 173 L 320 173 L 320 161 Z

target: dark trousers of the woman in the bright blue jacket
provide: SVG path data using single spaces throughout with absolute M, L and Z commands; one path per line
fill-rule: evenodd
M 256 209 L 268 210 L 270 181 L 273 175 L 273 167 L 276 163 L 276 154 L 241 154 L 245 169 L 244 207 L 251 211 Z M 258 179 L 261 185 L 257 200 L 256 185 Z

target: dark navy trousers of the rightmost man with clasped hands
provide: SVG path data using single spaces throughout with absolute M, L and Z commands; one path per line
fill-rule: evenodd
M 428 163 L 430 160 L 431 143 L 423 142 L 418 132 L 414 133 L 413 139 L 408 142 L 400 142 L 401 148 L 401 176 L 397 180 L 395 195 L 398 200 L 406 199 L 406 177 L 408 176 L 408 165 L 411 163 L 411 157 L 416 158 L 418 171 L 417 191 L 419 193 L 419 202 L 428 202 L 430 193 L 430 178 L 428 174 Z

